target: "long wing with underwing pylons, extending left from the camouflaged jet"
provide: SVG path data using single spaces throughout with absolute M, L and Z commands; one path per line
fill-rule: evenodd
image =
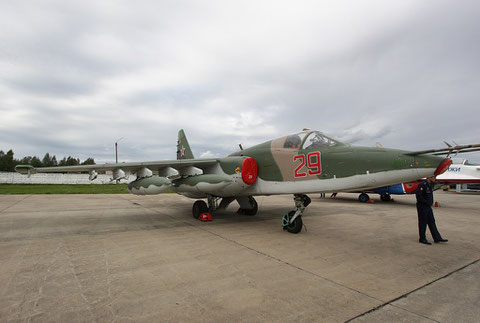
M 218 159 L 180 159 L 180 160 L 161 160 L 131 163 L 109 163 L 98 165 L 78 165 L 78 166 L 58 166 L 58 167 L 40 167 L 35 168 L 30 165 L 17 165 L 15 171 L 21 174 L 35 173 L 83 173 L 89 172 L 91 175 L 96 172 L 112 171 L 113 179 L 125 177 L 125 173 L 137 174 L 138 177 L 151 176 L 152 173 L 160 176 L 188 176 L 201 174 L 209 167 L 216 165 Z M 117 173 L 117 174 L 116 174 Z M 123 175 L 123 176 L 122 176 Z

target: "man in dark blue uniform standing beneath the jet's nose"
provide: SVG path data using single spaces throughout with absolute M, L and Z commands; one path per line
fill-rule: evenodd
M 418 233 L 420 243 L 429 244 L 425 231 L 428 228 L 432 234 L 433 241 L 438 242 L 447 242 L 447 239 L 443 239 L 440 233 L 437 230 L 435 225 L 435 217 L 433 216 L 432 205 L 433 205 L 433 182 L 435 181 L 435 176 L 428 177 L 425 181 L 418 185 L 417 190 L 415 191 L 415 196 L 417 198 L 417 212 L 418 212 Z

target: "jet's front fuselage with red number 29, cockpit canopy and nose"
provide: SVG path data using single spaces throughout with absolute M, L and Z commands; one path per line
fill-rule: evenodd
M 350 146 L 314 131 L 234 155 L 249 156 L 258 163 L 258 179 L 245 195 L 363 190 L 433 175 L 444 160 L 412 156 L 404 150 Z

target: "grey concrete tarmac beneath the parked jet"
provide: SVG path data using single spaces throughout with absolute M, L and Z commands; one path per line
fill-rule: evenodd
M 431 246 L 414 196 L 357 196 L 310 195 L 290 234 L 288 195 L 212 222 L 176 194 L 2 195 L 0 321 L 478 322 L 480 195 L 435 194 Z

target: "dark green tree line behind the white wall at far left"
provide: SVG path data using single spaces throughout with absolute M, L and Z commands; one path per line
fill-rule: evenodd
M 95 165 L 93 158 L 87 158 L 85 161 L 80 162 L 79 158 L 72 156 L 63 157 L 60 161 L 57 161 L 55 155 L 46 153 L 42 159 L 37 156 L 27 156 L 22 159 L 15 159 L 13 150 L 9 150 L 6 153 L 0 150 L 0 172 L 13 172 L 17 165 L 32 165 L 33 167 L 55 167 L 55 166 L 75 166 L 75 165 Z

